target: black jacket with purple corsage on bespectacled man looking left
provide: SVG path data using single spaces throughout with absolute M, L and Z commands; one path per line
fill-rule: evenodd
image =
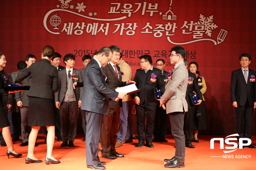
M 137 88 L 141 90 L 138 93 L 133 93 L 133 98 L 138 96 L 141 104 L 145 101 L 147 105 L 157 105 L 155 89 L 160 89 L 161 94 L 165 93 L 165 82 L 161 70 L 153 67 L 153 71 L 149 70 L 148 72 L 149 77 L 145 80 L 145 71 L 142 69 L 136 70 L 133 81 L 136 82 Z M 155 82 L 150 82 L 152 73 L 156 75 Z

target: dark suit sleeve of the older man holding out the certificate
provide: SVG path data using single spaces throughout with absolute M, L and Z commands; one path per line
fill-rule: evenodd
M 107 86 L 102 82 L 101 71 L 99 69 L 97 69 L 95 66 L 92 66 L 90 68 L 90 72 L 88 72 L 88 75 L 98 92 L 103 93 L 107 95 L 107 97 L 114 100 L 117 98 L 118 93 L 110 88 L 107 88 Z

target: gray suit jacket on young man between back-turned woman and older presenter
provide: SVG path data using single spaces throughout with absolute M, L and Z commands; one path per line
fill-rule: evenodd
M 78 78 L 78 82 L 83 82 L 83 77 L 80 72 L 80 70 L 77 70 L 73 68 L 72 74 L 75 74 L 75 76 Z M 70 77 L 72 78 L 72 77 Z M 72 84 L 75 82 L 75 80 L 72 78 Z M 66 68 L 59 71 L 59 90 L 55 93 L 55 102 L 62 103 L 64 96 L 67 91 L 67 71 Z M 73 85 L 72 85 L 73 86 Z M 78 102 L 79 100 L 82 100 L 82 89 L 81 88 L 73 88 L 73 91 L 75 93 L 75 100 Z

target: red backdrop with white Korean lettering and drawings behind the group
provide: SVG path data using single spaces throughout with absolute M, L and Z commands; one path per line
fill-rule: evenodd
M 203 133 L 229 135 L 236 132 L 230 78 L 240 68 L 239 55 L 250 53 L 256 69 L 255 8 L 255 0 L 1 0 L 0 52 L 10 73 L 27 54 L 39 61 L 45 45 L 62 56 L 74 53 L 80 69 L 84 54 L 117 45 L 134 76 L 142 54 L 154 64 L 164 59 L 171 70 L 171 47 L 181 45 L 206 80 Z

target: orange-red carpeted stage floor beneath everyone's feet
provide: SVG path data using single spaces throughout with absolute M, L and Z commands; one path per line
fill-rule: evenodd
M 198 136 L 199 143 L 192 143 L 196 146 L 194 149 L 186 148 L 185 168 L 184 170 L 255 170 L 256 149 L 244 148 L 237 149 L 234 152 L 224 154 L 224 149 L 219 149 L 219 142 L 215 142 L 214 149 L 210 149 L 210 140 L 217 136 Z M 225 138 L 226 136 L 218 136 Z M 23 154 L 21 158 L 13 158 L 10 156 L 8 160 L 6 151 L 7 147 L 0 147 L 0 165 L 1 170 L 86 170 L 85 161 L 85 142 L 82 142 L 84 137 L 77 135 L 74 148 L 61 148 L 62 142 L 56 141 L 53 146 L 53 156 L 60 160 L 60 164 L 45 165 L 46 142 L 45 135 L 40 134 L 35 147 L 34 155 L 37 159 L 43 160 L 42 163 L 25 164 L 27 156 L 27 146 L 20 147 L 20 142 L 15 142 L 14 147 L 18 153 Z M 124 158 L 116 160 L 100 160 L 107 162 L 107 170 L 166 170 L 164 167 L 164 159 L 171 159 L 175 154 L 175 143 L 172 135 L 166 135 L 168 143 L 153 143 L 155 148 L 141 147 L 135 148 L 138 139 L 133 140 L 133 143 L 123 144 L 117 148 L 117 152 L 124 154 Z M 256 145 L 256 136 L 252 137 L 252 144 Z M 231 158 L 223 158 L 223 155 L 229 155 Z M 233 158 L 232 158 L 233 155 Z M 251 155 L 250 158 L 235 158 L 236 156 Z M 221 156 L 221 157 L 211 157 Z M 228 156 L 227 156 L 228 157 Z M 89 169 L 88 169 L 89 170 Z

